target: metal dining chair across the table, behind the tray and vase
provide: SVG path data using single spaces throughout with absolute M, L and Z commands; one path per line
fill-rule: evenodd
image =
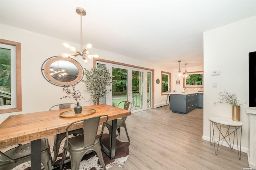
M 76 104 L 72 104 L 72 103 L 58 104 L 58 105 L 52 106 L 49 110 L 51 111 L 53 108 L 56 108 L 56 106 L 58 106 L 59 109 L 67 109 L 67 108 L 70 108 L 72 105 L 76 106 Z M 82 134 L 82 133 L 84 133 L 83 128 L 69 131 L 68 135 L 78 135 L 78 134 Z M 60 133 L 60 134 L 57 134 L 54 136 L 54 144 L 53 144 L 54 156 L 53 156 L 53 160 L 52 160 L 53 166 L 55 166 L 56 159 L 59 154 L 60 144 L 65 137 L 66 137 L 66 133 Z

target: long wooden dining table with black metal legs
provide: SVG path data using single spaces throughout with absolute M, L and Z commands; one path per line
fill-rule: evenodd
M 72 108 L 71 108 L 72 109 Z M 85 117 L 64 118 L 60 114 L 69 109 L 40 111 L 36 113 L 26 113 L 11 115 L 0 124 L 0 149 L 17 145 L 20 143 L 31 142 L 31 169 L 41 169 L 41 139 L 52 135 L 66 132 L 66 127 L 80 119 L 94 117 L 98 115 L 108 115 L 108 121 L 112 120 L 112 134 L 116 134 L 116 119 L 131 114 L 126 109 L 101 104 L 93 106 L 84 106 L 83 109 L 94 109 L 96 112 Z M 101 119 L 100 122 L 104 122 Z M 82 123 L 73 127 L 73 129 L 82 128 Z M 108 147 L 101 145 L 102 150 L 110 157 L 115 158 L 116 135 L 110 137 Z

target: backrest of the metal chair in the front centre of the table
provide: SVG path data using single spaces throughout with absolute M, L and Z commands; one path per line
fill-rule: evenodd
M 106 122 L 108 121 L 108 115 L 94 116 L 94 117 L 90 117 L 90 118 L 86 118 L 86 119 L 82 119 L 82 120 L 78 120 L 70 123 L 70 125 L 68 125 L 66 129 L 67 147 L 68 147 L 68 131 L 70 131 L 69 128 L 74 123 L 78 123 L 78 122 L 83 122 L 83 125 L 84 125 L 84 149 L 88 149 L 92 147 L 97 137 L 98 127 L 100 125 L 99 124 L 100 119 L 103 119 L 104 117 L 106 117 L 106 119 L 104 119 L 104 122 L 102 123 L 102 130 L 99 136 L 99 138 L 101 138 Z

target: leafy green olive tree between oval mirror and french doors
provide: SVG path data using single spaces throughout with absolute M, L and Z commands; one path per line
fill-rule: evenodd
M 113 76 L 110 76 L 109 70 L 106 66 L 98 65 L 91 70 L 84 68 L 85 80 L 87 90 L 91 93 L 91 100 L 94 104 L 100 104 L 100 97 L 106 96 L 111 90 L 106 87 L 112 83 Z

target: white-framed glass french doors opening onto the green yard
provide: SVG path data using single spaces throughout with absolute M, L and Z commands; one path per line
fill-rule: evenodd
M 104 64 L 114 76 L 112 86 L 107 87 L 112 93 L 107 94 L 106 104 L 118 106 L 119 102 L 128 101 L 132 103 L 133 113 L 151 108 L 152 72 L 150 70 L 103 62 L 97 64 Z

